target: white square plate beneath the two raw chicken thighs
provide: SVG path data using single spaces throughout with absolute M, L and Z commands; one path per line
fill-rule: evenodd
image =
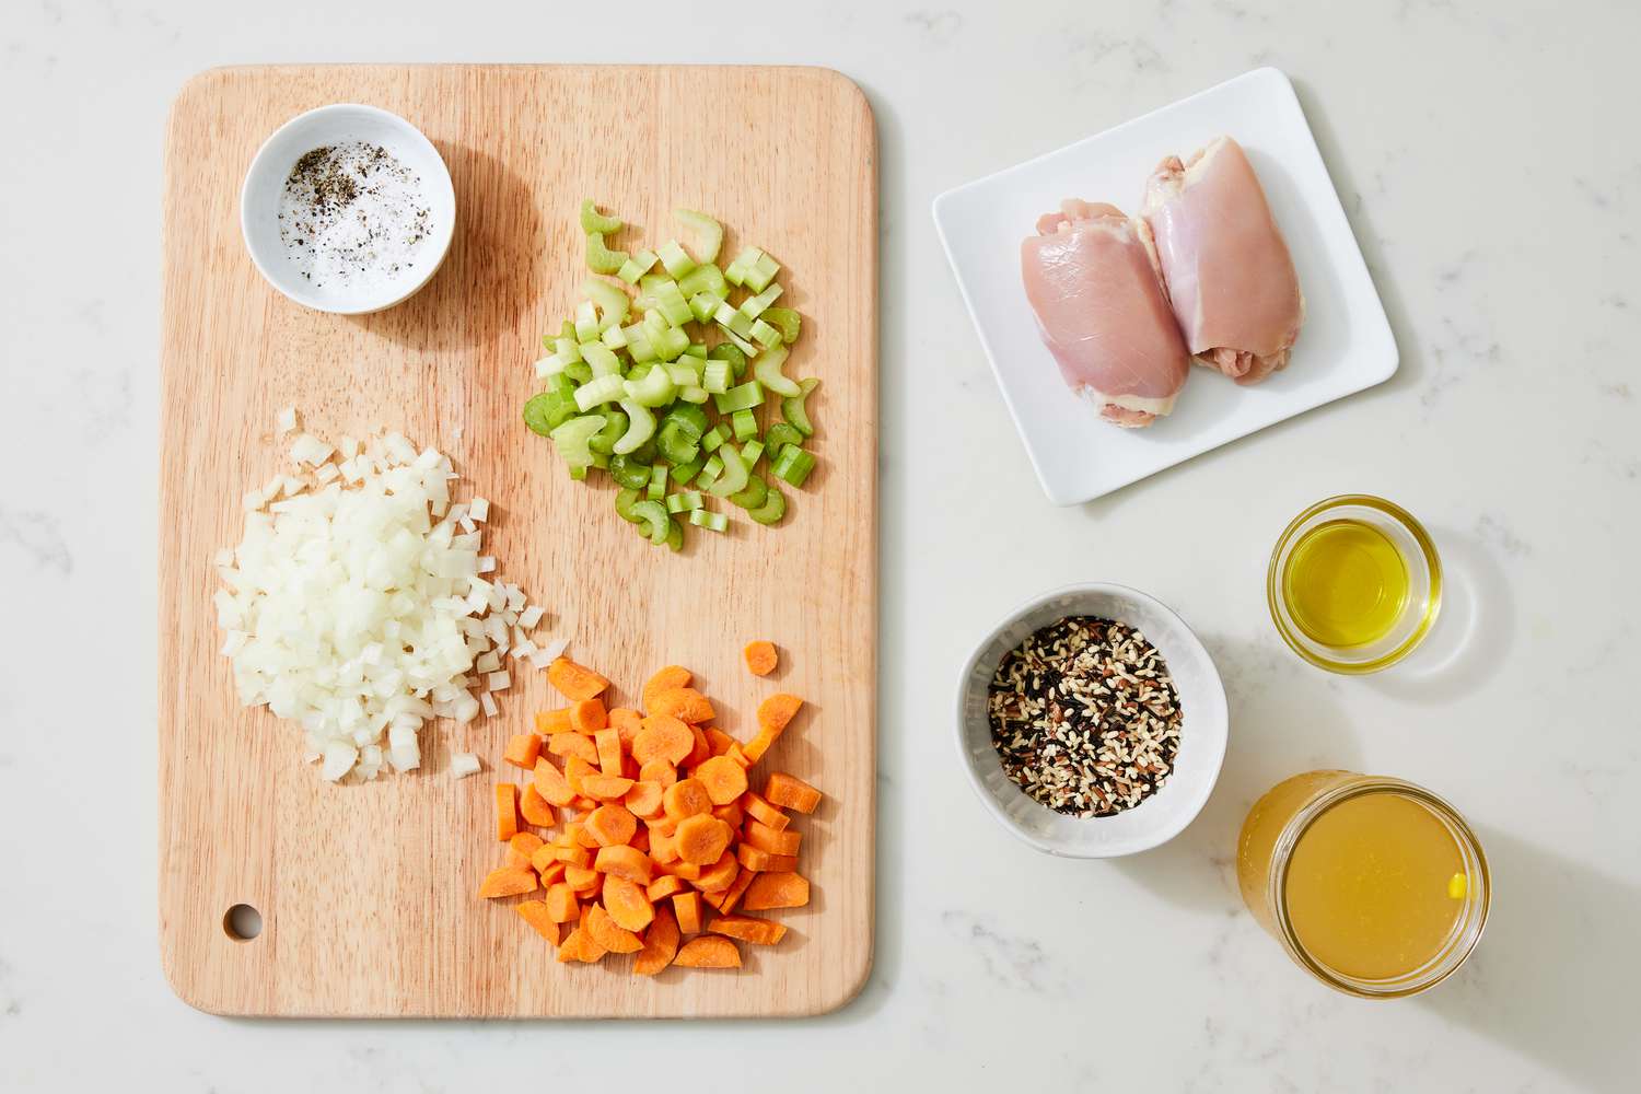
M 1237 387 L 1193 366 L 1173 413 L 1144 430 L 1101 422 L 1072 395 L 1037 335 L 1021 239 L 1060 198 L 1139 208 L 1168 154 L 1221 133 L 1244 149 L 1288 239 L 1306 320 L 1288 367 Z M 947 190 L 934 223 L 980 343 L 1049 500 L 1075 505 L 1267 425 L 1390 379 L 1396 341 L 1288 77 L 1255 69 L 1055 153 Z

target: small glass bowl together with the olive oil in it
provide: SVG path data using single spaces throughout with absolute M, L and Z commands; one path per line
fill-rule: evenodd
M 1342 494 L 1277 540 L 1265 576 L 1277 633 L 1329 672 L 1377 672 L 1424 640 L 1441 612 L 1441 558 L 1393 502 Z

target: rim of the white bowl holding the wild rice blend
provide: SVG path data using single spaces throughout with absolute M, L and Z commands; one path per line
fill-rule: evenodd
M 1149 832 L 1144 838 L 1137 840 L 1136 843 L 1124 845 L 1116 850 L 1072 848 L 1067 846 L 1065 843 L 1039 836 L 1022 828 L 1019 823 L 1016 823 L 1012 817 L 1008 815 L 1008 812 L 1004 812 L 1003 804 L 985 786 L 985 782 L 981 782 L 980 773 L 975 769 L 967 745 L 967 722 L 965 722 L 963 700 L 967 697 L 967 681 L 973 676 L 975 666 L 980 663 L 980 654 L 986 650 L 986 646 L 991 645 L 991 641 L 998 636 L 1001 630 L 1012 625 L 1024 615 L 1029 615 L 1031 612 L 1037 610 L 1039 607 L 1042 607 L 1050 600 L 1057 600 L 1068 595 L 1083 595 L 1083 594 L 1104 594 L 1104 595 L 1113 595 L 1116 599 L 1142 602 L 1147 607 L 1172 617 L 1173 622 L 1180 627 L 1180 631 L 1195 648 L 1193 651 L 1198 656 L 1201 656 L 1204 664 L 1208 664 L 1209 668 L 1208 681 L 1211 682 L 1214 697 L 1218 697 L 1219 709 L 1224 712 L 1224 717 L 1221 718 L 1221 732 L 1214 733 L 1213 740 L 1214 746 L 1213 769 L 1209 773 L 1209 777 L 1203 784 L 1198 800 L 1195 802 L 1186 800 L 1183 805 L 1168 814 L 1167 823 L 1159 825 L 1154 832 Z M 958 751 L 958 761 L 963 766 L 963 774 L 968 777 L 968 786 L 975 792 L 975 797 L 980 799 L 980 804 L 985 805 L 986 812 L 991 814 L 993 820 L 1003 825 L 1017 840 L 1029 845 L 1035 851 L 1042 851 L 1044 855 L 1054 855 L 1058 858 L 1080 858 L 1080 859 L 1122 858 L 1127 855 L 1137 855 L 1140 851 L 1150 851 L 1157 846 L 1162 846 L 1173 836 L 1180 835 L 1182 832 L 1185 832 L 1185 828 L 1188 828 L 1190 823 L 1196 820 L 1198 815 L 1201 815 L 1203 807 L 1208 805 L 1208 799 L 1213 797 L 1214 787 L 1219 784 L 1219 774 L 1224 769 L 1226 750 L 1231 740 L 1231 705 L 1226 699 L 1224 679 L 1219 676 L 1219 666 L 1208 653 L 1208 648 L 1203 645 L 1203 640 L 1196 636 L 1196 631 L 1191 630 L 1190 623 L 1186 623 L 1178 612 L 1175 612 L 1172 607 L 1168 607 L 1157 597 L 1150 595 L 1149 592 L 1142 592 L 1140 589 L 1134 589 L 1132 586 L 1122 586 L 1109 581 L 1085 581 L 1085 582 L 1072 582 L 1067 586 L 1057 586 L 1054 589 L 1049 589 L 1045 592 L 1031 597 L 1029 600 L 1017 604 L 1012 610 L 1003 615 L 1003 618 L 999 618 L 990 630 L 985 631 L 985 635 L 980 636 L 978 641 L 975 641 L 975 646 L 973 650 L 970 650 L 968 658 L 963 659 L 963 668 L 957 679 L 955 715 L 957 717 L 953 720 L 953 725 L 957 728 L 955 746 Z

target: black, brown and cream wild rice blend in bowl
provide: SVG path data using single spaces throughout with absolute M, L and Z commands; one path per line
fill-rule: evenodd
M 1011 650 L 991 677 L 991 743 L 1029 797 L 1109 817 L 1155 794 L 1180 751 L 1180 694 L 1132 627 L 1072 615 Z

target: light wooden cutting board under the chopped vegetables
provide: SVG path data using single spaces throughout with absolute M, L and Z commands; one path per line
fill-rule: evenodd
M 240 182 L 261 141 L 325 103 L 392 110 L 438 146 L 458 225 L 443 269 L 389 312 L 343 318 L 276 294 L 240 238 Z M 788 372 L 817 376 L 817 471 L 786 522 L 740 510 L 691 528 L 683 554 L 571 482 L 520 407 L 540 335 L 584 279 L 576 210 L 592 197 L 655 246 L 709 210 L 725 253 L 757 243 L 804 315 Z M 207 72 L 184 87 L 166 148 L 159 551 L 159 933 L 189 1004 L 238 1015 L 807 1015 L 847 1002 L 871 964 L 876 689 L 876 141 L 871 110 L 824 69 L 325 66 Z M 630 236 L 629 236 L 630 238 Z M 630 958 L 563 966 L 505 902 L 474 897 L 502 861 L 492 782 L 510 733 L 558 705 L 515 669 L 501 713 L 423 732 L 423 766 L 331 786 L 302 735 L 241 709 L 210 604 L 212 558 L 240 541 L 241 494 L 282 466 L 281 407 L 322 436 L 402 430 L 450 453 L 494 508 L 486 551 L 548 607 L 543 633 L 625 697 L 666 663 L 693 668 L 753 732 L 776 691 L 811 710 L 760 769 L 827 794 L 804 830 L 807 909 L 745 968 L 632 976 Z M 463 494 L 458 494 L 461 497 Z M 738 659 L 783 648 L 773 681 Z M 463 781 L 451 751 L 486 771 Z M 499 769 L 497 769 L 499 766 Z M 261 912 L 236 940 L 225 914 Z

